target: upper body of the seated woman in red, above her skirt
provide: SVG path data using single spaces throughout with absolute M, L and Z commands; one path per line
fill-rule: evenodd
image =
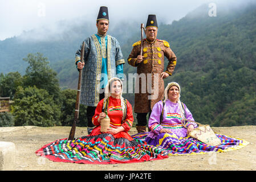
M 97 126 L 92 130 L 91 135 L 100 134 L 100 121 L 105 118 L 105 111 L 108 113 L 110 127 L 108 133 L 114 138 L 126 138 L 133 140 L 127 133 L 133 123 L 132 105 L 121 96 L 123 91 L 122 82 L 119 78 L 112 78 L 105 89 L 105 98 L 99 102 L 92 117 L 92 123 Z

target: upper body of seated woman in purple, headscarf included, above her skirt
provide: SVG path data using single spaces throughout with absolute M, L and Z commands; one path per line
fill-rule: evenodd
M 151 133 L 148 139 L 156 138 L 161 133 L 176 134 L 177 137 L 186 137 L 197 126 L 194 122 L 187 122 L 188 130 L 182 126 L 182 118 L 194 121 L 192 114 L 180 101 L 180 85 L 176 82 L 171 82 L 165 88 L 165 105 L 162 110 L 163 102 L 159 101 L 152 109 L 151 117 L 149 118 L 148 127 Z M 184 109 L 183 109 L 184 108 Z M 163 111 L 163 113 L 162 113 Z M 162 113 L 162 117 L 161 116 Z M 162 121 L 160 121 L 162 119 Z

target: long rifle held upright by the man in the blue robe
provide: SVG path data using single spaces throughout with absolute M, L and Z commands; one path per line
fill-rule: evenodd
M 82 63 L 84 63 L 84 42 L 82 44 L 82 49 L 81 49 L 81 61 L 82 61 Z M 68 137 L 68 140 L 74 140 L 74 137 L 75 137 L 76 123 L 78 122 L 78 115 L 79 115 L 79 102 L 80 102 L 82 73 L 83 73 L 83 69 L 79 69 L 78 92 L 76 93 L 76 105 L 75 105 L 75 118 L 72 123 L 72 127 L 70 130 L 70 136 Z

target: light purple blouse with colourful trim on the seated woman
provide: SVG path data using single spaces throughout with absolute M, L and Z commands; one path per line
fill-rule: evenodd
M 194 121 L 194 118 L 188 108 L 185 106 L 185 114 L 186 119 Z M 156 138 L 156 136 L 160 133 L 161 129 L 169 129 L 172 133 L 176 134 L 177 137 L 186 137 L 187 129 L 182 126 L 182 118 L 180 108 L 178 103 L 173 103 L 170 100 L 165 101 L 164 105 L 164 114 L 162 118 L 162 122 L 160 123 L 160 115 L 162 112 L 162 101 L 157 102 L 151 112 L 151 117 L 148 121 L 149 129 L 151 132 L 148 134 L 150 138 Z M 189 125 L 197 126 L 194 122 L 185 122 L 185 126 L 188 127 Z

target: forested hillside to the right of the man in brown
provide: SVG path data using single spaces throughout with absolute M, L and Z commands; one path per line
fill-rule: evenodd
M 196 120 L 213 126 L 255 125 L 256 6 L 221 9 L 216 17 L 206 9 L 161 27 L 159 34 L 178 57 L 168 80 L 181 84 L 181 100 Z

